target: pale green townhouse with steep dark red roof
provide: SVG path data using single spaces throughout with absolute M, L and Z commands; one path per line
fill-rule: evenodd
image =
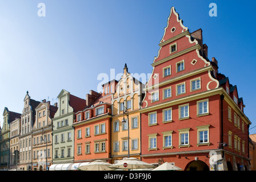
M 53 164 L 74 163 L 75 113 L 86 107 L 86 100 L 62 89 L 58 95 L 58 110 L 53 118 Z

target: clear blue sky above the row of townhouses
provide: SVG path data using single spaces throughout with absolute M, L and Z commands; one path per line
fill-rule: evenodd
M 37 14 L 41 2 L 45 17 Z M 212 2 L 217 17 L 209 16 Z M 22 113 L 27 90 L 51 103 L 61 89 L 86 98 L 100 73 L 122 73 L 125 63 L 131 73 L 151 73 L 172 6 L 190 32 L 202 28 L 209 59 L 237 85 L 256 126 L 255 1 L 1 0 L 0 111 Z

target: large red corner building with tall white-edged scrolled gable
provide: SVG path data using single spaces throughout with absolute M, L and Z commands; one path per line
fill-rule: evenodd
M 248 129 L 237 87 L 171 8 L 141 104 L 142 161 L 185 170 L 249 169 Z M 210 162 L 210 160 L 211 162 Z

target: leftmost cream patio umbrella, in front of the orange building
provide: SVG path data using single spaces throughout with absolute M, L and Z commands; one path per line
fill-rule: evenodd
M 103 162 L 103 160 L 94 160 L 84 166 L 78 167 L 82 171 L 111 171 L 113 168 L 109 168 L 111 164 Z

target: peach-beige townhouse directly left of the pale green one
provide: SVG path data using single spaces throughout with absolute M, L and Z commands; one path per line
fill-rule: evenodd
M 33 171 L 45 171 L 53 164 L 52 129 L 53 117 L 58 107 L 43 100 L 35 108 L 35 124 L 33 126 Z M 47 159 L 47 160 L 46 160 Z

